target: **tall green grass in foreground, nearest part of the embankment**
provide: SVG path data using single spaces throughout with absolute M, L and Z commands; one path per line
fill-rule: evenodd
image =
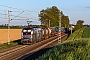
M 90 45 L 87 40 L 60 44 L 39 57 L 38 60 L 89 60 Z

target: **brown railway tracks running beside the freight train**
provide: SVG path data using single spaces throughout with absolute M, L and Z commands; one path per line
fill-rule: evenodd
M 62 37 L 67 36 L 62 35 Z M 45 48 L 47 45 L 58 40 L 58 36 L 43 40 L 32 45 L 19 45 L 0 52 L 0 60 L 17 60 L 18 58 Z

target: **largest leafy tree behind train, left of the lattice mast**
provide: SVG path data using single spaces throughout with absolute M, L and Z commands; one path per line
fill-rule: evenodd
M 41 24 L 48 27 L 50 20 L 50 26 L 58 26 L 59 9 L 56 6 L 41 10 L 39 14 L 39 21 Z

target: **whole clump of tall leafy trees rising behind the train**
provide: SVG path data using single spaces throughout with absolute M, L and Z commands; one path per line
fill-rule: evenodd
M 50 26 L 59 26 L 59 12 L 60 10 L 56 6 L 52 6 L 51 8 L 43 9 L 40 11 L 39 16 L 39 21 L 41 22 L 42 25 L 49 26 L 49 20 L 50 20 Z M 65 16 L 63 12 L 60 12 L 62 15 L 61 18 L 61 26 L 62 27 L 67 27 L 69 26 L 69 18 L 68 16 Z

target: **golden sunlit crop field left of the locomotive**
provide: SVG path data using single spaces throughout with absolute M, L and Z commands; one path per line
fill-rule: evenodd
M 21 29 L 10 29 L 10 40 L 21 38 Z M 8 29 L 0 29 L 0 44 L 8 42 Z

